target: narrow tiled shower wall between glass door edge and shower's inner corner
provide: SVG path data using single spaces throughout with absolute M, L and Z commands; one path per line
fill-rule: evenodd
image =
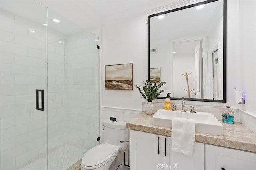
M 49 32 L 49 31 L 48 31 Z M 48 34 L 48 152 L 55 150 L 67 143 L 67 95 L 65 89 L 65 43 L 58 43 L 66 36 L 50 31 Z M 58 37 L 58 38 L 57 38 Z M 60 39 L 59 39 L 60 38 Z M 62 55 L 56 53 L 56 47 L 62 51 Z M 63 67 L 57 67 L 63 65 Z M 58 81 L 56 81 L 58 80 Z M 57 127 L 58 125 L 58 127 Z M 61 125 L 61 126 L 60 126 Z M 50 160 L 49 160 L 50 161 Z

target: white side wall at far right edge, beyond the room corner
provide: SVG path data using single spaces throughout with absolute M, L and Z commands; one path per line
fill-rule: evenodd
M 239 37 L 240 53 L 236 66 L 241 67 L 242 76 L 238 81 L 246 94 L 243 109 L 256 116 L 256 1 L 239 1 L 239 23 L 239 34 L 236 36 Z

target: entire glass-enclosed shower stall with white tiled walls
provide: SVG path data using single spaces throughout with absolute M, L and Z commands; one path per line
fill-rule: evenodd
M 0 169 L 66 170 L 99 143 L 99 37 L 36 1 L 0 17 Z

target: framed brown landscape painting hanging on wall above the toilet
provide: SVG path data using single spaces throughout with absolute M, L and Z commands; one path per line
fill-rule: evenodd
M 105 66 L 105 89 L 132 90 L 132 64 Z

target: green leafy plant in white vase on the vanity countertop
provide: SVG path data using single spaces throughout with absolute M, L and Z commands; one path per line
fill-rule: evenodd
M 143 91 L 140 89 L 140 87 L 136 84 L 136 87 L 140 91 L 140 94 L 142 97 L 148 101 L 148 103 L 145 105 L 145 111 L 148 115 L 152 115 L 154 111 L 154 105 L 151 103 L 155 97 L 159 96 L 164 90 L 160 90 L 160 87 L 162 87 L 165 82 L 161 82 L 158 85 L 152 84 L 149 80 L 143 81 L 144 86 L 143 86 Z

